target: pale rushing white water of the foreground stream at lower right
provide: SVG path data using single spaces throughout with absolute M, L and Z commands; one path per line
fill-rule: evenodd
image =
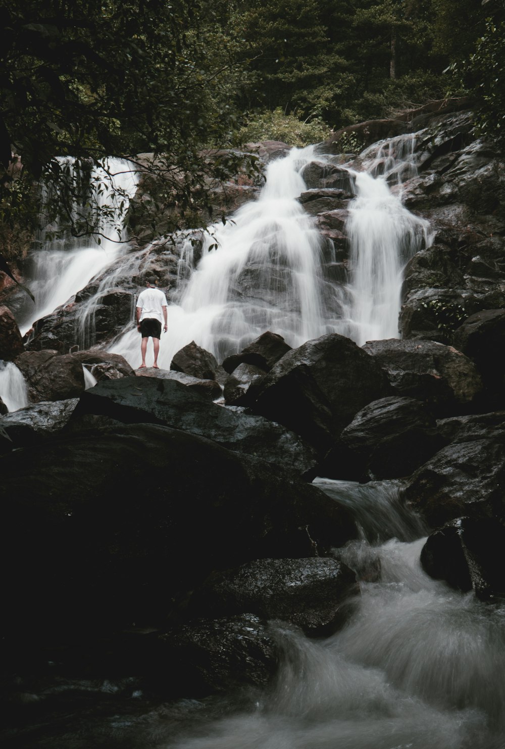
M 333 486 L 332 486 L 333 484 Z M 397 486 L 319 480 L 346 497 L 360 542 L 339 556 L 363 575 L 347 624 L 326 640 L 280 629 L 284 656 L 275 685 L 251 695 L 248 711 L 171 749 L 502 749 L 505 609 L 450 590 L 420 568 L 419 521 L 397 511 Z M 368 495 L 368 496 L 366 496 Z M 378 512 L 374 510 L 375 500 Z M 388 526 L 391 503 L 392 526 Z M 365 504 L 365 511 L 363 505 Z M 370 543 L 381 527 L 389 540 Z M 222 706 L 219 711 L 222 711 Z

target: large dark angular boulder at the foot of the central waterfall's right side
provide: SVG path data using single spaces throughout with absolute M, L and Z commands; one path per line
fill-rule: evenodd
M 338 333 L 289 351 L 251 389 L 256 413 L 293 429 L 322 453 L 361 408 L 389 394 L 380 364 Z

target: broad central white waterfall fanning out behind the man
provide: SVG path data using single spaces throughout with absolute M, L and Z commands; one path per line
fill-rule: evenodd
M 265 330 L 293 346 L 330 332 L 322 303 L 322 237 L 296 200 L 305 189 L 300 172 L 312 159 L 310 147 L 273 162 L 258 200 L 209 228 L 197 269 L 168 309 L 160 366 L 168 369 L 192 340 L 222 359 Z M 111 351 L 137 363 L 136 331 Z

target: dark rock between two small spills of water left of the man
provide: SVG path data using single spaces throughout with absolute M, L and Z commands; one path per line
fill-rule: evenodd
M 58 351 L 25 351 L 16 359 L 25 377 L 31 403 L 77 398 L 85 389 L 82 364 L 73 354 Z

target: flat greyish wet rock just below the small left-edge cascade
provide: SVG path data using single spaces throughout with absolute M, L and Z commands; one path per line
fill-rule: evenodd
M 0 424 L 13 446 L 33 445 L 64 428 L 78 403 L 79 398 L 42 401 L 7 414 Z

